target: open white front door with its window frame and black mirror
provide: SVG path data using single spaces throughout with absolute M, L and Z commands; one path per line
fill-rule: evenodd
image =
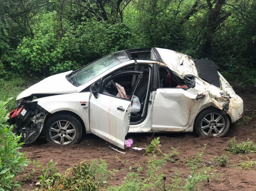
M 133 95 L 135 88 L 141 79 L 142 72 L 128 71 L 119 73 L 118 75 L 107 78 L 105 82 L 103 80 L 103 87 L 104 83 L 107 81 L 125 74 L 138 75 L 138 79 L 131 92 L 131 95 Z M 98 86 L 96 83 L 93 85 Z M 92 92 L 92 94 L 93 93 L 94 92 Z M 130 126 L 132 101 L 111 94 L 98 93 L 97 91 L 93 95 L 91 95 L 89 99 L 90 132 L 111 144 L 124 149 L 124 139 Z

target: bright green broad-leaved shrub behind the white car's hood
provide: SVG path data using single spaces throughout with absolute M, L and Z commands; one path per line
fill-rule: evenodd
M 49 71 L 63 72 L 74 67 L 75 64 L 68 61 L 79 52 L 74 37 L 65 35 L 57 38 L 54 32 L 44 34 L 40 29 L 34 30 L 34 33 L 34 38 L 23 38 L 11 65 L 44 76 Z

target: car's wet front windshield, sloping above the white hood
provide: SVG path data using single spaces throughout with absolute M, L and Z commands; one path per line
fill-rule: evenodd
M 108 69 L 130 60 L 125 52 L 116 52 L 104 56 L 91 64 L 77 70 L 70 78 L 69 82 L 74 86 L 81 86 Z

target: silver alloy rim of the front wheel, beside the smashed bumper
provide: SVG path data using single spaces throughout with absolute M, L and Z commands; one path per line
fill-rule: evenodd
M 76 128 L 69 121 L 59 120 L 51 125 L 49 135 L 55 143 L 67 145 L 76 137 Z

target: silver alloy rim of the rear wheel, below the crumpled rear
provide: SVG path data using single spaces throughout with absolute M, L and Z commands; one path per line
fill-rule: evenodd
M 225 128 L 225 120 L 219 113 L 209 113 L 201 121 L 201 130 L 205 135 L 219 135 Z

